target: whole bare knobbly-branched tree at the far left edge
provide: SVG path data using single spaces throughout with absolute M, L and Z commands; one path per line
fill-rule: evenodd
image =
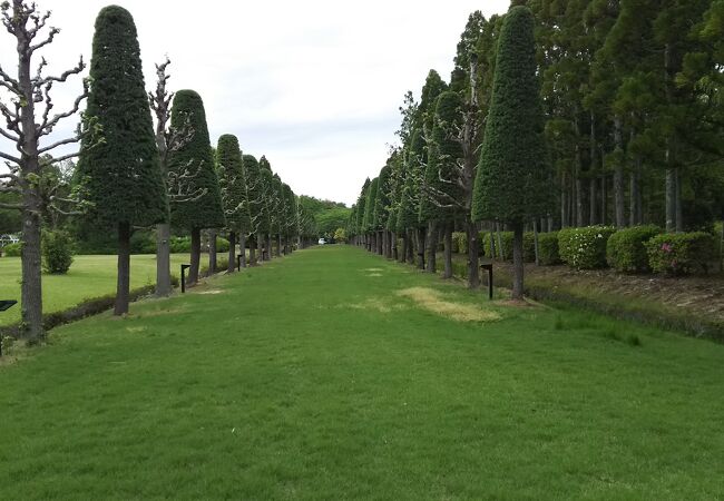
M 41 57 L 32 73 L 33 57 L 40 49 L 50 45 L 60 30 L 55 27 L 45 29 L 50 12 L 38 12 L 35 3 L 21 0 L 4 1 L 0 4 L 0 12 L 2 26 L 14 38 L 18 55 L 17 75 L 10 75 L 0 67 L 0 115 L 4 121 L 0 125 L 0 136 L 13 144 L 17 150 L 0 151 L 0 158 L 6 160 L 9 167 L 9 173 L 0 174 L 0 180 L 4 180 L 0 184 L 0 193 L 20 195 L 19 203 L 0 203 L 0 208 L 12 208 L 22 213 L 21 335 L 30 342 L 38 342 L 43 337 L 41 217 L 43 210 L 49 207 L 60 210 L 61 203 L 72 202 L 60 199 L 55 185 L 48 183 L 48 170 L 50 166 L 78 155 L 68 153 L 53 156 L 52 151 L 58 147 L 80 141 L 80 128 L 75 135 L 47 145 L 41 146 L 41 140 L 49 136 L 62 119 L 79 111 L 80 104 L 88 96 L 88 80 L 84 80 L 82 92 L 67 110 L 53 114 L 51 90 L 56 84 L 63 84 L 71 76 L 82 72 L 86 68 L 82 56 L 74 68 L 59 76 L 43 75 L 48 63 Z

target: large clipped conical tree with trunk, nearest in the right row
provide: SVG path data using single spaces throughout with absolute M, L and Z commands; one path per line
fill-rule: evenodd
M 500 32 L 472 204 L 474 220 L 499 220 L 512 227 L 513 299 L 522 298 L 524 223 L 545 215 L 551 200 L 536 69 L 534 16 L 517 6 Z

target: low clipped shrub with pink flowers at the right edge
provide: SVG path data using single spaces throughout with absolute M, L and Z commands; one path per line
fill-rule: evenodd
M 673 275 L 707 273 L 717 258 L 716 242 L 705 232 L 656 235 L 646 244 L 646 250 L 653 272 Z

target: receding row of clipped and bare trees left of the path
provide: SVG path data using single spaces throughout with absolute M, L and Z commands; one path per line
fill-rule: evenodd
M 50 43 L 59 30 L 50 28 L 43 41 L 33 38 L 45 28 L 49 13 L 39 13 L 35 4 L 14 0 L 2 6 L 3 24 L 18 40 L 19 75 L 12 77 L 2 68 L 2 87 L 10 91 L 11 106 L 0 102 L 8 128 L 0 128 L 6 139 L 14 143 L 19 156 L 2 153 L 9 174 L 0 175 L 0 191 L 16 193 L 21 204 L 12 207 L 22 213 L 22 330 L 29 341 L 43 336 L 40 273 L 40 230 L 42 215 L 48 210 L 75 214 L 79 224 L 90 232 L 117 236 L 118 281 L 114 312 L 128 312 L 130 285 L 130 237 L 135 229 L 156 227 L 157 294 L 172 291 L 172 228 L 190 234 L 189 283 L 197 282 L 200 259 L 200 234 L 213 234 L 209 248 L 211 271 L 215 271 L 215 234 L 229 237 L 228 272 L 236 265 L 236 243 L 243 266 L 245 249 L 250 263 L 271 259 L 292 252 L 306 218 L 299 198 L 265 157 L 257 160 L 242 155 L 238 140 L 232 135 L 218 139 L 214 150 L 200 96 L 193 90 L 169 94 L 166 90 L 168 60 L 157 66 L 158 81 L 154 92 L 146 92 L 136 27 L 124 8 L 104 8 L 95 26 L 90 75 L 85 92 L 67 112 L 52 116 L 50 90 L 85 68 L 66 71 L 60 77 L 42 77 L 42 60 L 33 77 L 30 59 Z M 78 134 L 47 147 L 42 136 L 57 122 L 78 111 L 87 98 Z M 45 104 L 42 111 L 36 104 Z M 156 118 L 154 120 L 151 109 Z M 38 125 L 39 124 L 39 125 Z M 77 154 L 56 158 L 47 154 L 56 146 L 80 141 Z M 78 156 L 72 191 L 59 198 L 45 178 L 52 166 Z M 68 209 L 69 207 L 69 209 Z M 302 229 L 302 232 L 301 232 Z M 296 242 L 294 242 L 296 244 Z

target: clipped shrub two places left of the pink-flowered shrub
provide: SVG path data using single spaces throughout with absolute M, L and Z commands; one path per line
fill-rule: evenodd
M 606 267 L 606 244 L 616 232 L 613 226 L 564 228 L 558 232 L 560 259 L 578 269 Z

